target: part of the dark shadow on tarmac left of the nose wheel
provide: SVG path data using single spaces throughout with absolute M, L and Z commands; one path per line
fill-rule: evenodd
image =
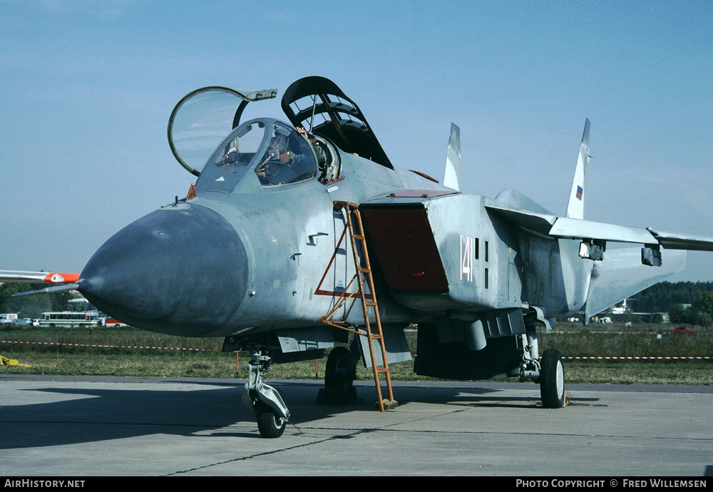
M 248 417 L 247 409 L 236 408 L 240 397 L 234 388 L 154 391 L 47 387 L 24 391 L 66 394 L 71 399 L 2 407 L 0 436 L 7 448 L 61 446 L 158 433 L 191 434 Z

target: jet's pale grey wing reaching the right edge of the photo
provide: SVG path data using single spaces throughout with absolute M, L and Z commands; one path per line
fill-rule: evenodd
M 526 229 L 559 239 L 588 239 L 661 245 L 670 250 L 713 251 L 713 237 L 657 232 L 650 227 L 630 227 L 592 220 L 557 217 L 506 205 L 486 205 L 486 209 Z

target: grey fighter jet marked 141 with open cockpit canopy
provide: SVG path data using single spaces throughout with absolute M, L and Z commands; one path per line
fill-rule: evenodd
M 0 278 L 58 284 L 39 292 L 77 289 L 141 329 L 224 337 L 225 351 L 250 353 L 243 402 L 274 438 L 290 414 L 265 382 L 270 364 L 347 342 L 330 352 L 325 397 L 354 394 L 361 359 L 374 368 L 384 409 L 394 401 L 388 364 L 411 359 L 409 324 L 418 326 L 417 374 L 519 377 L 540 385 L 544 406 L 561 407 L 560 352 L 540 356 L 538 327 L 582 310 L 587 324 L 682 270 L 683 250 L 713 250 L 713 238 L 585 220 L 588 120 L 560 216 L 514 190 L 462 193 L 456 125 L 439 183 L 393 165 L 327 78 L 289 86 L 284 117 L 241 121 L 248 103 L 276 96 L 219 86 L 189 93 L 168 124 L 175 158 L 198 177 L 185 198 L 117 232 L 78 277 Z M 607 251 L 607 242 L 635 246 Z

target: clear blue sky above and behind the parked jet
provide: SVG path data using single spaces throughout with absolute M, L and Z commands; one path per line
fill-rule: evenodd
M 185 196 L 181 97 L 331 78 L 392 162 L 564 213 L 585 118 L 585 217 L 713 236 L 709 1 L 0 2 L 0 268 L 81 271 L 124 225 Z M 673 280 L 713 280 L 689 253 Z

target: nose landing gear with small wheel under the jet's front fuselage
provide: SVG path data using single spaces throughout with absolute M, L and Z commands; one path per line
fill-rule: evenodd
M 269 368 L 270 356 L 262 355 L 260 349 L 250 349 L 250 362 L 247 363 L 250 379 L 245 383 L 242 403 L 255 412 L 260 436 L 274 439 L 282 436 L 289 410 L 284 404 L 282 391 L 265 383 L 263 374 Z

